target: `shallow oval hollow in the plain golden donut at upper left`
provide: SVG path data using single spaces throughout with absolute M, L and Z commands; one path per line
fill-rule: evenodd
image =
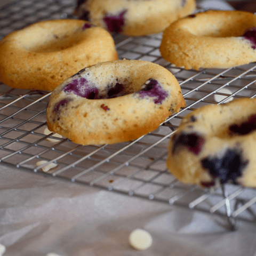
M 21 44 L 30 52 L 55 52 L 68 49 L 81 43 L 85 37 L 84 29 L 77 24 L 67 26 L 63 23 L 31 26 L 20 36 Z

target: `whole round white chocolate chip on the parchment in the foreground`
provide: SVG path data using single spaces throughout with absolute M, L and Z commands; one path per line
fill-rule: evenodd
M 146 230 L 135 229 L 129 236 L 129 242 L 136 250 L 146 250 L 152 244 L 152 237 Z

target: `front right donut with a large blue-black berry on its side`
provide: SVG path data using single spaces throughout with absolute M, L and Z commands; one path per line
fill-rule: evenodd
M 192 111 L 170 139 L 167 168 L 180 181 L 256 187 L 256 99 Z

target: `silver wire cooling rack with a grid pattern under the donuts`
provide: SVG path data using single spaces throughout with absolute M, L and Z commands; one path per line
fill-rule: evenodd
M 0 39 L 39 20 L 74 18 L 73 0 L 23 0 L 2 7 Z M 185 70 L 161 58 L 162 35 L 114 36 L 120 59 L 158 63 L 178 79 L 187 107 L 170 116 L 154 132 L 114 145 L 81 146 L 45 135 L 49 92 L 12 89 L 0 83 L 0 164 L 77 182 L 85 186 L 187 207 L 236 219 L 256 221 L 256 190 L 226 185 L 211 191 L 185 185 L 167 171 L 167 145 L 183 116 L 209 103 L 253 98 L 256 65 L 229 69 Z M 224 91 L 223 91 L 224 90 Z M 37 166 L 39 161 L 46 164 Z M 48 172 L 42 167 L 57 164 Z M 1 168 L 1 165 L 0 165 Z

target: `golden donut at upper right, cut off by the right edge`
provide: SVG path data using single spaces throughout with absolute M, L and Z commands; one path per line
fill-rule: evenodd
M 164 30 L 162 57 L 185 69 L 229 68 L 256 61 L 256 16 L 243 11 L 206 11 Z

